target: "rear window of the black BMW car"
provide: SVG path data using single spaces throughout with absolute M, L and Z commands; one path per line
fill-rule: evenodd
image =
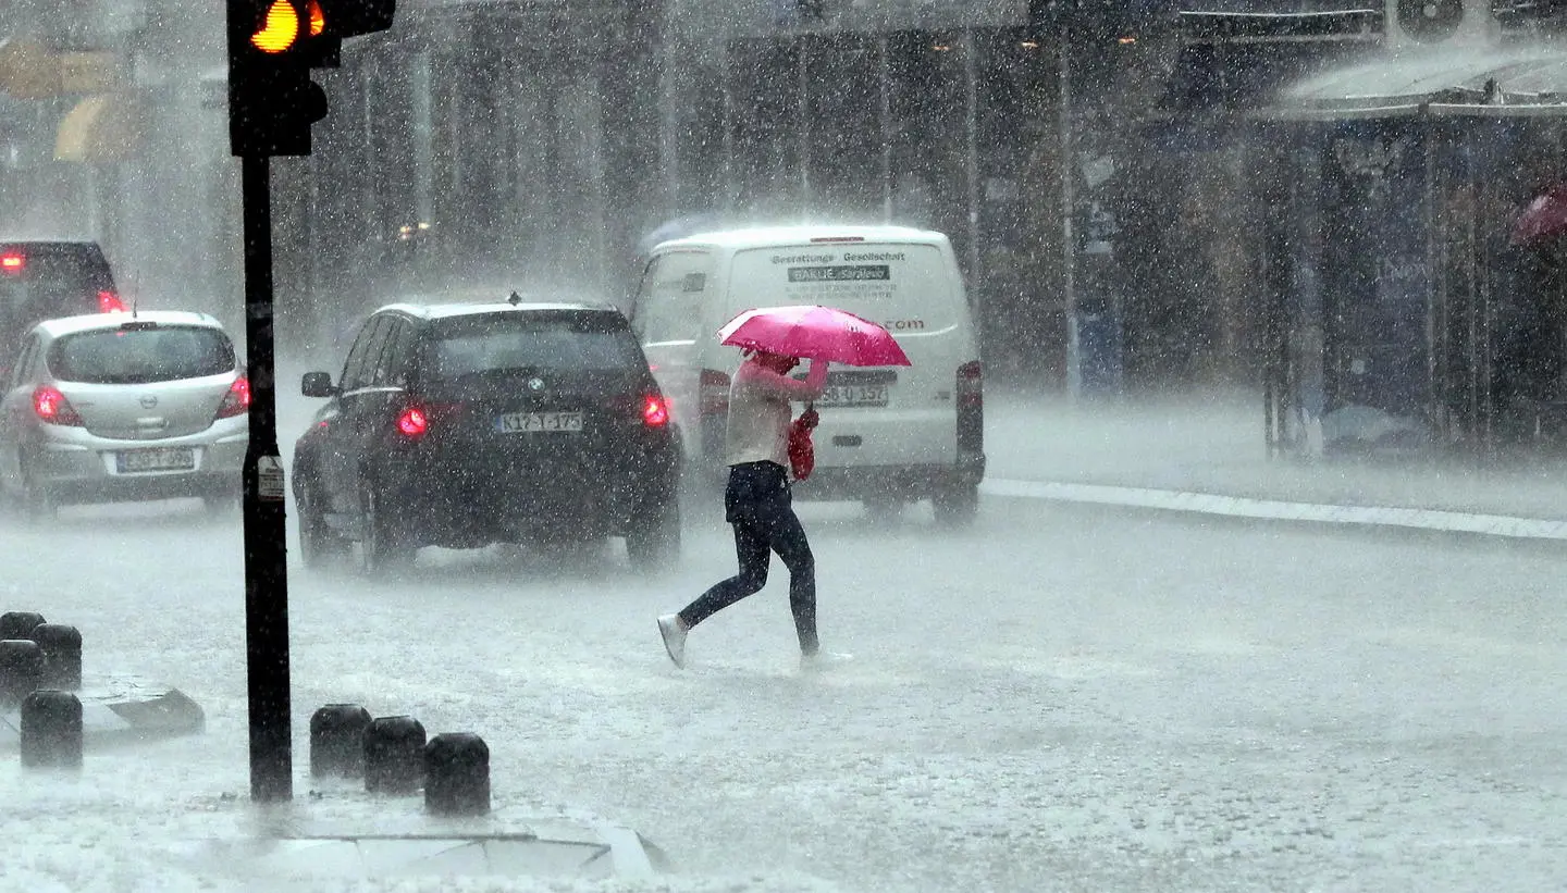
M 429 381 L 508 370 L 558 373 L 646 368 L 625 318 L 616 313 L 490 313 L 442 320 L 425 345 Z

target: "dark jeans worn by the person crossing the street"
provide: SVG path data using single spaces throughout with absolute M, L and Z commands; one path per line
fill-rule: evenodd
M 794 614 L 799 650 L 816 653 L 816 558 L 805 540 L 805 528 L 794 515 L 784 467 L 776 462 L 732 465 L 724 490 L 724 517 L 735 528 L 740 573 L 686 605 L 680 619 L 686 627 L 696 627 L 746 595 L 760 592 L 768 581 L 769 551 L 776 551 L 788 567 L 788 606 Z

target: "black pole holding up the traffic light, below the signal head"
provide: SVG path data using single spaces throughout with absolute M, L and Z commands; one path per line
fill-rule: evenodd
M 244 204 L 244 342 L 251 442 L 244 453 L 244 652 L 251 702 L 251 799 L 293 799 L 288 683 L 288 547 L 277 451 L 273 349 L 273 205 L 268 155 L 240 157 Z

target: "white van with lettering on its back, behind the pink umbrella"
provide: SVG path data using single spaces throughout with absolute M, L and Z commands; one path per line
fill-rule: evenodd
M 873 511 L 931 498 L 937 517 L 970 519 L 986 464 L 984 389 L 962 274 L 939 232 L 766 227 L 657 246 L 630 316 L 689 467 L 724 468 L 729 382 L 741 357 L 718 343 L 718 329 L 741 310 L 784 304 L 874 320 L 914 363 L 832 367 L 816 401 L 816 470 L 796 497 L 863 500 Z

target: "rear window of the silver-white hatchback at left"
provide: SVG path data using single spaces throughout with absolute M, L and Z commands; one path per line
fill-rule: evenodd
M 150 384 L 232 370 L 229 337 L 197 326 L 77 332 L 49 351 L 49 371 L 56 379 L 86 384 Z

